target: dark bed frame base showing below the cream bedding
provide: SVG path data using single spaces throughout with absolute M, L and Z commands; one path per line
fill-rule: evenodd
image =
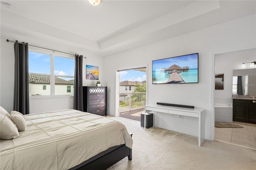
M 132 133 L 130 133 L 130 135 L 132 136 Z M 90 158 L 95 160 L 90 162 L 90 159 L 89 159 L 89 163 L 83 162 L 80 165 L 77 165 L 71 169 L 72 170 L 73 169 L 74 170 L 90 170 L 90 169 L 106 170 L 110 166 L 116 164 L 117 162 L 125 158 L 126 156 L 128 156 L 128 160 L 132 160 L 132 149 L 125 146 L 125 144 L 122 144 L 120 145 L 120 147 L 100 156 L 99 158 L 95 159 L 95 156 Z

